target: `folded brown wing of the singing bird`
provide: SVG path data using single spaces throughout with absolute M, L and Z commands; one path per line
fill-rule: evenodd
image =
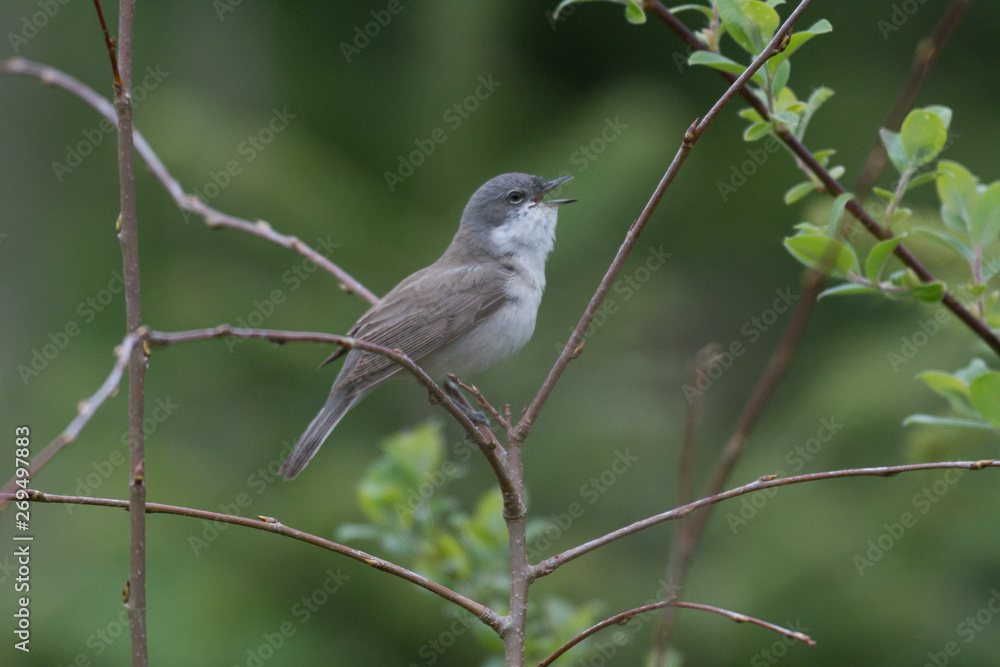
M 499 310 L 508 300 L 503 289 L 508 277 L 508 270 L 502 266 L 447 270 L 429 266 L 393 288 L 351 327 L 348 335 L 400 349 L 419 361 Z M 348 357 L 337 386 L 358 381 L 373 384 L 399 370 L 383 356 L 355 352 L 360 352 L 357 363 L 351 368 L 353 360 Z M 341 353 L 334 353 L 327 361 Z

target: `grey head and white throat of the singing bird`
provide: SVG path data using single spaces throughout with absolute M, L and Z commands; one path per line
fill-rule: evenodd
M 466 204 L 456 241 L 494 256 L 527 254 L 544 264 L 555 243 L 556 209 L 576 200 L 543 198 L 570 178 L 512 173 L 490 179 Z

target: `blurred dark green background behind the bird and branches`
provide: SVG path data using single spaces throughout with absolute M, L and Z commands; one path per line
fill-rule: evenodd
M 220 14 L 220 3 L 140 3 L 136 87 L 150 71 L 158 74 L 136 95 L 136 126 L 189 192 L 215 193 L 213 174 L 225 182 L 218 174 L 235 161 L 239 173 L 210 199 L 213 206 L 268 220 L 314 247 L 320 240 L 335 244 L 329 257 L 378 294 L 439 256 L 468 196 L 488 178 L 507 171 L 576 176 L 561 192 L 580 202 L 561 211 L 535 335 L 512 360 L 476 378 L 495 404 L 510 403 L 515 414 L 551 368 L 684 130 L 724 90 L 710 70 L 683 64 L 684 46 L 662 24 L 629 25 L 620 6 L 606 3 L 577 7 L 554 23 L 546 15 L 554 2 L 403 1 L 349 62 L 341 44 L 386 2 L 230 4 L 232 11 Z M 915 44 L 946 4 L 817 1 L 803 17 L 800 27 L 827 18 L 834 31 L 793 58 L 790 85 L 800 97 L 820 85 L 836 90 L 806 144 L 836 148 L 834 163 L 847 167 L 846 184 L 909 70 Z M 25 17 L 43 10 L 36 2 L 4 2 L 0 56 L 50 64 L 110 95 L 92 5 L 53 6 L 55 15 L 18 42 L 15 53 L 10 34 L 22 34 Z M 781 9 L 787 15 L 789 8 Z M 117 8 L 107 5 L 105 12 L 116 30 Z M 696 20 L 683 18 L 689 25 Z M 954 110 L 953 141 L 942 157 L 985 181 L 1000 176 L 998 21 L 996 3 L 973 3 L 918 99 Z M 467 100 L 480 77 L 498 85 L 485 99 Z M 458 124 L 448 115 L 456 104 L 475 107 Z M 707 396 L 700 487 L 787 323 L 787 313 L 770 310 L 778 293 L 798 294 L 800 267 L 781 239 L 829 203 L 818 195 L 791 208 L 782 203 L 784 190 L 801 180 L 784 151 L 769 153 L 745 185 L 720 196 L 718 184 L 745 169 L 748 148 L 762 147 L 740 137 L 743 121 L 735 112 L 742 106 L 730 105 L 695 147 L 622 273 L 638 289 L 619 284 L 612 295 L 617 308 L 595 326 L 526 446 L 532 515 L 558 515 L 574 502 L 585 508 L 546 556 L 673 506 L 687 364 L 707 343 L 740 342 L 746 353 Z M 287 124 L 261 150 L 248 151 L 244 142 L 276 111 Z M 619 131 L 602 137 L 612 126 Z M 124 299 L 115 293 L 121 268 L 115 140 L 99 127 L 95 112 L 61 90 L 24 77 L 0 79 L 3 479 L 13 466 L 14 427 L 30 426 L 40 451 L 103 382 L 124 334 Z M 385 172 L 397 170 L 399 156 L 438 128 L 446 140 L 390 190 Z M 60 180 L 52 164 L 65 162 L 67 147 L 87 141 L 85 133 L 100 143 Z M 341 333 L 365 310 L 322 272 L 303 273 L 296 282 L 299 255 L 210 230 L 193 216 L 186 220 L 144 168 L 137 180 L 143 319 L 151 327 L 260 317 L 268 328 Z M 891 187 L 891 174 L 880 184 Z M 911 205 L 933 213 L 937 202 L 924 188 Z M 669 257 L 644 271 L 661 248 Z M 88 299 L 103 300 L 99 312 Z M 890 355 L 938 308 L 875 298 L 822 301 L 731 485 L 779 471 L 927 455 L 927 442 L 916 446 L 919 432 L 901 420 L 944 404 L 913 376 L 953 370 L 974 355 L 996 367 L 949 317 L 912 360 L 893 368 Z M 23 378 L 18 367 L 67 326 L 78 334 L 37 375 Z M 156 351 L 146 383 L 149 500 L 223 511 L 247 501 L 243 514 L 274 516 L 325 537 L 361 520 L 354 485 L 379 443 L 444 415 L 411 381 L 397 380 L 357 407 L 295 482 L 261 475 L 276 469 L 283 448 L 324 400 L 335 370 L 314 368 L 328 353 L 314 344 L 221 340 Z M 125 416 L 123 387 L 33 486 L 126 497 Z M 823 420 L 842 427 L 797 457 L 796 448 L 821 434 Z M 445 433 L 449 448 L 462 447 L 456 426 L 446 423 Z M 996 457 L 996 446 L 995 439 L 952 441 L 930 455 Z M 607 471 L 622 452 L 638 463 L 614 475 L 590 503 L 590 480 L 602 473 L 605 482 L 612 479 Z M 454 491 L 471 504 L 491 476 L 478 458 L 468 467 Z M 943 478 L 928 472 L 830 481 L 719 506 L 682 598 L 792 625 L 819 644 L 789 646 L 761 628 L 683 611 L 678 648 L 689 664 L 921 665 L 955 642 L 960 652 L 948 664 L 992 662 L 1000 642 L 1000 617 L 988 606 L 991 599 L 994 609 L 1000 604 L 996 473 L 966 473 L 954 484 Z M 924 489 L 935 502 L 922 503 Z M 745 524 L 736 520 L 741 512 Z M 859 575 L 855 557 L 904 512 L 915 524 Z M 91 664 L 126 664 L 120 592 L 127 515 L 32 508 L 29 655 L 12 648 L 12 524 L 8 511 L 0 520 L 0 662 L 73 664 L 84 656 Z M 428 643 L 452 623 L 446 605 L 353 561 L 237 527 L 203 533 L 201 522 L 180 517 L 151 516 L 148 530 L 153 664 L 246 665 L 248 651 L 286 623 L 294 633 L 264 664 L 425 665 L 433 657 L 437 664 L 470 665 L 485 657 L 472 633 L 455 636 L 443 655 L 428 653 Z M 605 614 L 642 604 L 661 587 L 672 530 L 659 526 L 566 565 L 532 589 L 533 599 L 597 599 Z M 211 540 L 196 550 L 190 539 L 198 537 Z M 303 618 L 297 603 L 321 589 L 328 569 L 346 576 L 343 585 Z M 977 613 L 979 630 L 961 625 Z M 638 664 L 652 620 L 613 651 L 612 634 L 602 635 L 610 658 L 591 648 L 562 662 Z

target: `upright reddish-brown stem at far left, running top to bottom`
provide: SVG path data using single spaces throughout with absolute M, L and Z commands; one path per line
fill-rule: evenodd
M 122 0 L 118 14 L 118 53 L 107 38 L 108 30 L 98 0 L 101 27 L 104 29 L 115 75 L 115 109 L 118 112 L 118 177 L 121 190 L 121 215 L 118 239 L 122 246 L 125 278 L 125 320 L 129 333 L 142 326 L 139 288 L 139 237 L 135 206 L 135 162 L 132 145 L 132 21 L 135 0 Z M 117 64 L 117 68 L 114 65 Z M 129 615 L 132 640 L 132 665 L 148 664 L 146 648 L 146 483 L 145 414 L 146 353 L 137 345 L 129 355 L 129 576 L 122 598 Z

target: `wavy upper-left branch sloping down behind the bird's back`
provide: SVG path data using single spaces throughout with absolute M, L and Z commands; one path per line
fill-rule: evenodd
M 94 91 L 93 88 L 90 88 L 85 83 L 64 72 L 61 72 L 53 67 L 49 67 L 48 65 L 31 62 L 23 58 L 10 58 L 9 60 L 0 62 L 0 75 L 4 74 L 31 76 L 40 79 L 43 83 L 48 85 L 62 88 L 63 90 L 79 97 L 81 100 L 93 107 L 99 114 L 115 123 L 117 126 L 118 118 L 114 106 L 108 102 L 107 99 Z M 150 145 L 146 142 L 145 138 L 143 138 L 142 134 L 136 130 L 133 132 L 133 135 L 135 137 L 135 149 L 139 151 L 143 160 L 146 161 L 146 166 L 149 167 L 149 170 L 153 173 L 156 179 L 163 184 L 167 194 L 170 195 L 170 198 L 174 200 L 174 203 L 182 211 L 190 211 L 191 213 L 203 217 L 205 219 L 205 224 L 209 227 L 229 227 L 231 229 L 238 229 L 242 232 L 246 232 L 247 234 L 258 236 L 266 241 L 280 245 L 283 248 L 288 248 L 310 261 L 315 262 L 317 266 L 333 275 L 340 282 L 340 288 L 344 290 L 344 292 L 348 294 L 357 294 L 370 304 L 378 303 L 378 297 L 369 291 L 364 285 L 358 282 L 342 268 L 331 262 L 325 255 L 313 250 L 297 237 L 287 236 L 274 231 L 274 229 L 271 228 L 271 225 L 264 220 L 252 222 L 250 220 L 228 215 L 218 209 L 208 206 L 198 197 L 184 192 L 184 188 L 181 187 L 181 184 L 177 181 L 177 179 L 170 175 L 170 172 L 167 171 L 163 162 L 160 161 L 159 156 L 156 155 Z

